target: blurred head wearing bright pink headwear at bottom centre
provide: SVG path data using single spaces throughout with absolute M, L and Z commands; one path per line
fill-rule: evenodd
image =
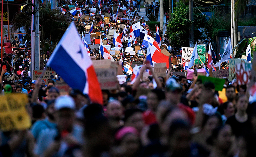
M 139 132 L 131 127 L 123 127 L 115 134 L 115 139 L 119 146 L 124 148 L 123 156 L 132 157 L 138 155 L 140 150 Z

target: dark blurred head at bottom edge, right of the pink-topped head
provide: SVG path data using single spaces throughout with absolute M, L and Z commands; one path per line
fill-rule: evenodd
M 169 128 L 168 147 L 173 156 L 186 157 L 190 154 L 190 126 L 186 121 L 174 120 Z

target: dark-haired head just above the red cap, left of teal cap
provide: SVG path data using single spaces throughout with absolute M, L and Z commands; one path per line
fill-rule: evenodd
M 165 94 L 161 89 L 153 89 L 148 93 L 147 104 L 148 108 L 156 112 L 157 106 L 161 100 L 165 99 Z

